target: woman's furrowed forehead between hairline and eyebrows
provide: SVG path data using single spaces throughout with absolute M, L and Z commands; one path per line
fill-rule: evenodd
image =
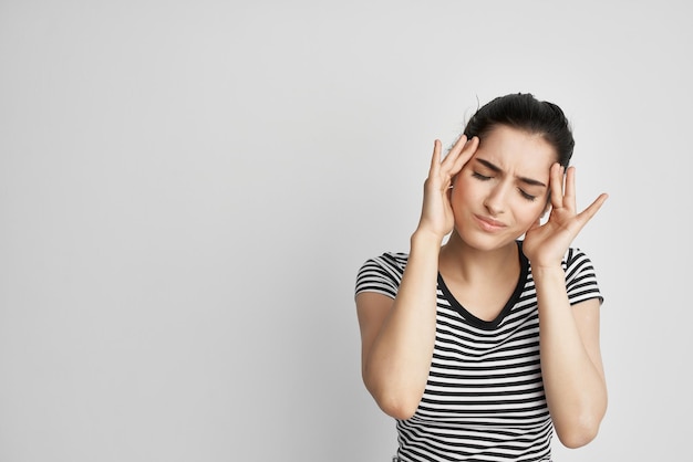
M 480 139 L 474 158 L 487 160 L 504 170 L 548 176 L 558 155 L 541 135 L 499 125 Z

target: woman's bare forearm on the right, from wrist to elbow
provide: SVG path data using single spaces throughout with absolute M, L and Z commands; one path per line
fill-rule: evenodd
M 580 447 L 594 438 L 607 409 L 603 371 L 590 356 L 576 323 L 562 269 L 532 269 L 532 275 L 549 411 L 561 442 Z

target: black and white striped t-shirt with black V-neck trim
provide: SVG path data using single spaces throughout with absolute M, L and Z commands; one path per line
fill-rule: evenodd
M 531 269 L 520 248 L 520 277 L 498 317 L 468 313 L 438 274 L 436 336 L 424 395 L 397 420 L 397 456 L 420 461 L 544 461 L 554 428 L 539 364 L 539 316 Z M 394 298 L 406 253 L 384 253 L 360 269 L 355 292 Z M 590 260 L 569 249 L 562 262 L 571 304 L 601 298 Z

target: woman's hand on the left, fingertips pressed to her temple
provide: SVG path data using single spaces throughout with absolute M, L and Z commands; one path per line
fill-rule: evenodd
M 441 160 L 441 141 L 435 140 L 428 178 L 424 182 L 424 203 L 416 232 L 430 233 L 443 240 L 455 225 L 451 206 L 451 188 L 455 175 L 472 158 L 479 145 L 478 137 L 462 135 Z

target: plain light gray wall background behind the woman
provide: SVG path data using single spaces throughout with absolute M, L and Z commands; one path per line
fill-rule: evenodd
M 433 140 L 572 120 L 610 408 L 555 459 L 690 454 L 685 1 L 0 1 L 0 462 L 386 461 L 352 293 Z

